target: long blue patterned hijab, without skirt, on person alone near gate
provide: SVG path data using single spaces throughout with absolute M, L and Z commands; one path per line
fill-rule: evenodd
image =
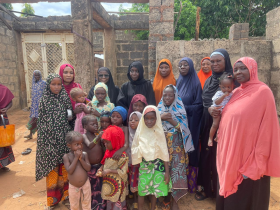
M 40 74 L 40 80 L 36 82 L 35 79 L 35 73 Z M 42 80 L 42 74 L 39 70 L 35 70 L 33 72 L 33 78 L 32 78 L 32 91 L 31 91 L 31 107 L 30 107 L 30 118 L 38 118 L 38 111 L 39 111 L 39 102 L 40 98 L 43 95 L 43 92 L 46 87 L 46 82 Z

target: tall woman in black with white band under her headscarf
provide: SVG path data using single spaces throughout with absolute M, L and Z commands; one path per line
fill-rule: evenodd
M 224 72 L 233 74 L 229 54 L 225 49 L 215 50 L 211 56 L 212 76 L 210 76 L 203 87 L 203 114 L 201 119 L 201 152 L 199 160 L 199 171 L 197 184 L 202 186 L 202 191 L 195 195 L 196 200 L 204 200 L 207 197 L 215 197 L 217 192 L 217 168 L 216 168 L 216 150 L 217 143 L 214 141 L 213 146 L 208 146 L 209 131 L 213 123 L 212 116 L 209 112 L 218 115 L 220 111 L 211 107 L 212 97 L 220 90 L 219 78 Z M 239 86 L 235 84 L 235 86 Z M 210 108 L 209 108 L 210 107 Z M 209 111 L 208 111 L 209 108 Z

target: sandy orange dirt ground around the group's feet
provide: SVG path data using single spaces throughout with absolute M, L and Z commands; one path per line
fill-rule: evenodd
M 9 114 L 11 124 L 16 125 L 16 143 L 13 145 L 15 162 L 9 165 L 10 172 L 0 172 L 0 209 L 1 210 L 43 210 L 46 206 L 46 180 L 35 181 L 36 135 L 32 140 L 23 136 L 29 132 L 25 125 L 29 112 L 13 111 Z M 29 155 L 21 152 L 31 148 Z M 13 198 L 13 194 L 23 190 L 24 195 Z M 215 200 L 196 201 L 194 194 L 188 194 L 179 201 L 180 209 L 184 210 L 214 210 Z M 280 210 L 280 178 L 271 178 L 270 210 Z M 59 204 L 56 210 L 67 210 Z

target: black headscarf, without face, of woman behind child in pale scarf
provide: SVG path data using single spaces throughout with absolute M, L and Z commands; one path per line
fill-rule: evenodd
M 106 67 L 99 68 L 97 71 L 97 74 L 99 74 L 100 71 L 106 71 L 109 74 L 109 80 L 105 84 L 108 87 L 108 96 L 110 98 L 110 102 L 116 105 L 117 98 L 119 95 L 119 88 L 115 85 L 111 71 L 108 68 L 106 68 Z M 99 81 L 99 77 L 98 77 L 98 81 Z M 93 86 L 89 91 L 88 98 L 90 100 L 92 100 L 92 98 L 94 96 L 94 88 L 95 88 L 95 86 Z

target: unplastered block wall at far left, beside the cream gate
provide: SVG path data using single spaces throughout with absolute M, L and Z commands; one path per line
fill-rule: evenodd
M 1 11 L 0 11 L 1 12 Z M 4 18 L 11 24 L 11 17 L 1 13 Z M 0 20 L 0 84 L 7 86 L 15 98 L 13 99 L 12 109 L 23 108 L 26 104 L 25 85 L 21 85 L 20 72 L 18 62 L 18 49 L 19 33 L 9 30 L 6 25 Z M 1 94 L 1 93 L 0 93 Z

